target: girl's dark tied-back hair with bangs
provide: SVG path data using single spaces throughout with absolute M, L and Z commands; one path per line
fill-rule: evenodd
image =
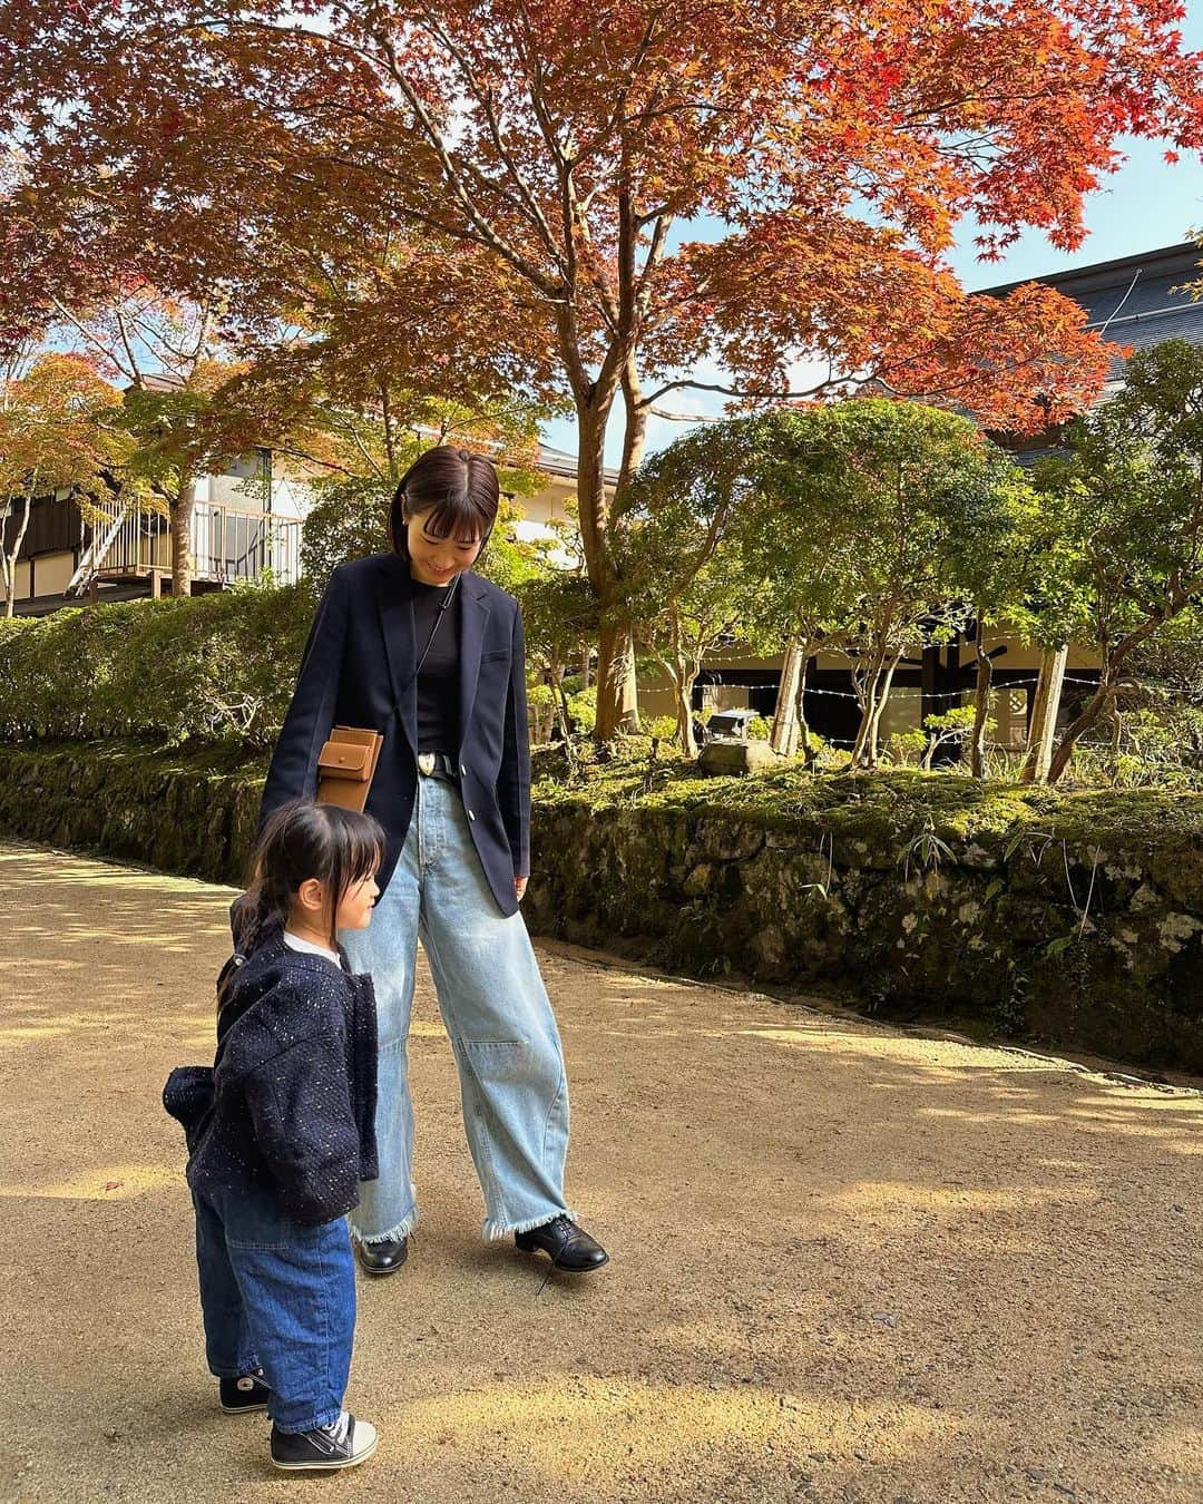
M 268 820 L 251 853 L 245 899 L 239 902 L 235 949 L 250 955 L 272 929 L 283 929 L 298 889 L 310 878 L 326 887 L 325 931 L 335 943 L 335 916 L 347 889 L 383 860 L 385 833 L 371 815 L 302 799 Z M 218 981 L 218 1005 L 233 969 Z

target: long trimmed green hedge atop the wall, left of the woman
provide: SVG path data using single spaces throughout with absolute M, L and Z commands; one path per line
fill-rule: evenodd
M 0 738 L 239 740 L 268 747 L 314 602 L 305 585 L 0 621 Z

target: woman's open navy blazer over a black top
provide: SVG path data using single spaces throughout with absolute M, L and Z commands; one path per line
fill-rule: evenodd
M 513 596 L 465 570 L 459 582 L 460 746 L 468 826 L 504 914 L 531 872 L 531 738 L 522 614 Z M 367 812 L 388 836 L 380 892 L 405 845 L 418 791 L 418 683 L 409 562 L 395 553 L 340 564 L 313 618 L 292 704 L 272 754 L 259 824 L 313 799 L 331 728 L 383 732 Z

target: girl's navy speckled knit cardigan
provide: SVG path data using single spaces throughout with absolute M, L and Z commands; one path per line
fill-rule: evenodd
M 323 1223 L 374 1181 L 376 996 L 326 957 L 271 931 L 235 973 L 212 1068 L 179 1066 L 162 1092 L 183 1123 L 197 1191 L 274 1191 Z

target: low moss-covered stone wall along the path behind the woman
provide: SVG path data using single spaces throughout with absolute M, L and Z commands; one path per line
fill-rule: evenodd
M 262 778 L 233 749 L 0 744 L 0 830 L 238 883 Z M 1203 796 L 544 778 L 532 847 L 535 932 L 1203 1071 Z

